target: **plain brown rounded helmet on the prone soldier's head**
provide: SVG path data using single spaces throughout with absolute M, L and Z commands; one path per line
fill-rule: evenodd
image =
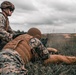
M 30 28 L 27 32 L 29 35 L 33 36 L 33 37 L 36 37 L 38 39 L 41 38 L 41 31 L 37 28 Z

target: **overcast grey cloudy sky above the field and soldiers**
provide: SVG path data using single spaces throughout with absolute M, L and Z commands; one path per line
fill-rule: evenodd
M 42 33 L 76 33 L 76 0 L 7 1 L 15 5 L 9 17 L 13 30 L 27 31 L 36 27 Z

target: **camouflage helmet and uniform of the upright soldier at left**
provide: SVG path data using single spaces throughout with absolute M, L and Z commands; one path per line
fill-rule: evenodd
M 5 41 L 10 41 L 12 39 L 14 32 L 9 26 L 8 16 L 11 15 L 9 15 L 7 9 L 13 12 L 15 6 L 9 1 L 4 1 L 1 3 L 0 9 L 2 10 L 2 12 L 0 12 L 0 39 L 3 39 Z

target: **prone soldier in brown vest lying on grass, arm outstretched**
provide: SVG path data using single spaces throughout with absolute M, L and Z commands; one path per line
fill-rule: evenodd
M 24 67 L 33 57 L 42 59 L 44 64 L 64 62 L 76 63 L 75 56 L 50 54 L 53 48 L 46 48 L 40 41 L 42 33 L 37 28 L 30 28 L 27 34 L 22 34 L 8 42 L 0 52 L 0 74 L 2 75 L 27 75 L 28 70 Z M 54 51 L 56 51 L 54 49 Z

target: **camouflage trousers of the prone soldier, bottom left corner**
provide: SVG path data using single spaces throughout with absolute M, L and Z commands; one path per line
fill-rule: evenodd
M 11 49 L 0 52 L 0 75 L 27 75 L 20 55 Z

